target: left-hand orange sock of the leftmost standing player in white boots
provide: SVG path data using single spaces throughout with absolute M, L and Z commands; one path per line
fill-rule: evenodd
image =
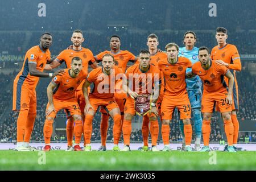
M 23 142 L 27 115 L 28 110 L 19 111 L 19 117 L 17 119 L 17 142 Z

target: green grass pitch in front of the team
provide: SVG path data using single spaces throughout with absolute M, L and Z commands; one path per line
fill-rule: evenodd
M 1 150 L 0 170 L 256 170 L 255 156 L 256 151 L 44 153 Z

